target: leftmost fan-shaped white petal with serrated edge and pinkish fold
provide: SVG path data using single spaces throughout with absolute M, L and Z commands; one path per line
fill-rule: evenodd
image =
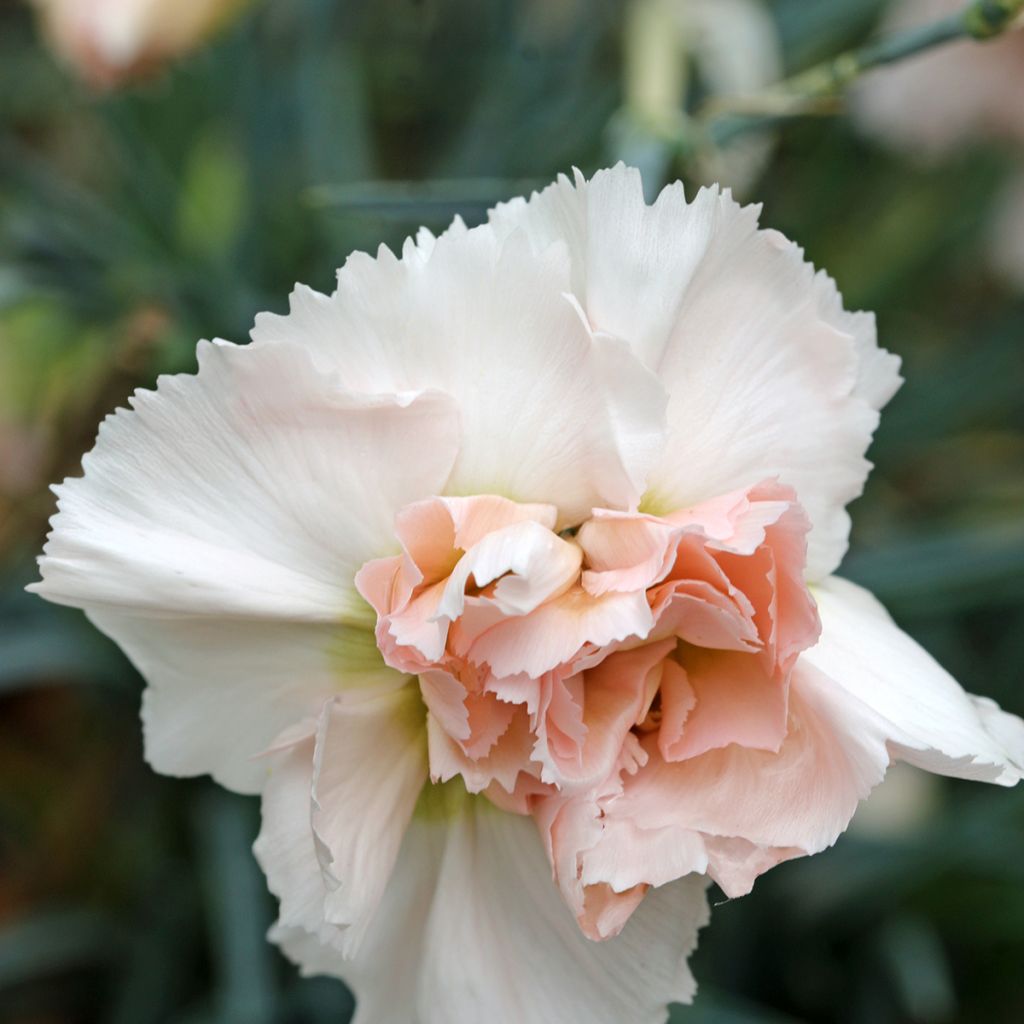
M 132 614 L 372 623 L 352 579 L 458 445 L 438 394 L 356 397 L 295 345 L 202 343 L 100 427 L 33 588 Z

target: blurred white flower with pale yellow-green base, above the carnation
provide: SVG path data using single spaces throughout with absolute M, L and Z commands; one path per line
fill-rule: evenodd
M 782 71 L 775 24 L 760 0 L 631 0 L 624 44 L 616 146 L 627 159 L 648 154 L 657 177 L 664 177 L 668 151 L 685 135 L 691 84 L 697 101 L 745 96 L 777 81 Z M 771 133 L 762 131 L 701 151 L 697 176 L 743 193 L 772 146 Z

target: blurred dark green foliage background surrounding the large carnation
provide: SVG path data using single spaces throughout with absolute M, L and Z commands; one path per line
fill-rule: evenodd
M 133 670 L 23 592 L 47 485 L 134 388 L 194 369 L 198 338 L 244 340 L 296 281 L 331 291 L 351 250 L 479 220 L 572 165 L 625 157 L 652 193 L 722 178 L 878 312 L 907 383 L 843 571 L 1024 713 L 1024 241 L 1006 205 L 1024 138 L 979 86 L 966 127 L 919 141 L 941 89 L 884 76 L 856 117 L 721 151 L 694 121 L 870 38 L 894 16 L 879 0 L 221 2 L 137 38 L 116 3 L 106 37 L 69 6 L 103 5 L 0 0 L 0 1022 L 348 1020 L 339 982 L 299 980 L 264 941 L 256 802 L 155 775 Z M 1001 101 L 1024 110 L 1008 44 Z M 994 59 L 974 45 L 968 78 Z M 1019 1024 L 1022 965 L 1024 790 L 897 771 L 836 848 L 717 908 L 701 993 L 672 1020 Z

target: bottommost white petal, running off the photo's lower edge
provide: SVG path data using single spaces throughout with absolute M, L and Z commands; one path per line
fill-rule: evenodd
M 664 1024 L 695 985 L 686 957 L 708 920 L 706 882 L 652 891 L 622 934 L 585 938 L 528 818 L 477 803 L 414 821 L 351 961 L 294 926 L 274 934 L 307 973 L 344 978 L 356 1024 Z

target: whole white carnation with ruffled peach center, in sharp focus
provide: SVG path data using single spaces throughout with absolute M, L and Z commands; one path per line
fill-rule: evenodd
M 758 210 L 622 166 L 352 256 L 102 425 L 35 589 L 146 756 L 262 795 L 272 937 L 364 1024 L 664 1021 L 705 890 L 1024 723 L 830 573 L 899 384 Z

